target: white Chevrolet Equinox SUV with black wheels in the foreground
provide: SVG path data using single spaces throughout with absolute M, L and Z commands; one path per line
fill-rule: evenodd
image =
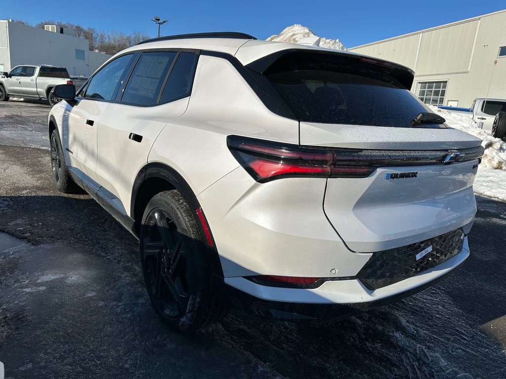
M 235 32 L 155 38 L 49 115 L 56 186 L 140 240 L 158 315 L 229 307 L 329 321 L 426 288 L 469 256 L 481 140 L 395 63 Z

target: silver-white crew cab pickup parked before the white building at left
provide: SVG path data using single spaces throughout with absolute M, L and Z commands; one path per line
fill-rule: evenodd
M 9 97 L 48 99 L 50 105 L 58 103 L 51 90 L 57 84 L 73 84 L 65 67 L 21 65 L 10 72 L 0 73 L 0 101 Z

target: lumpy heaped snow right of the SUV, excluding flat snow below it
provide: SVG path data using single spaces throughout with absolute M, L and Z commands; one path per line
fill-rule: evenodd
M 506 143 L 500 138 L 494 138 L 479 128 L 473 119 L 466 115 L 458 115 L 434 106 L 431 109 L 446 119 L 446 123 L 452 128 L 463 130 L 483 139 L 482 146 L 485 148 L 480 167 L 506 170 Z

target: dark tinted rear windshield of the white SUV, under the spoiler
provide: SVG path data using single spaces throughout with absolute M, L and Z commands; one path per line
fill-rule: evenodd
M 399 68 L 360 57 L 287 54 L 264 74 L 300 121 L 411 127 L 428 111 L 398 81 L 406 82 Z

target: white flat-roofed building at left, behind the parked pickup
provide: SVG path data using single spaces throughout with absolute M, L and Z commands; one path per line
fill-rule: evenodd
M 53 65 L 66 67 L 71 76 L 90 76 L 110 57 L 90 52 L 86 39 L 0 20 L 0 72 Z

